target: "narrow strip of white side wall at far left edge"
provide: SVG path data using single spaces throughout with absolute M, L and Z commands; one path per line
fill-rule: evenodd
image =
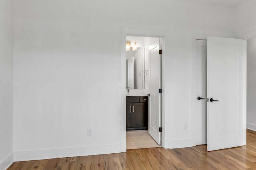
M 12 161 L 12 0 L 0 0 L 0 169 Z

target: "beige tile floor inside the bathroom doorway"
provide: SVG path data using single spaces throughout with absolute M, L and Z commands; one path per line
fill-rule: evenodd
M 126 131 L 126 149 L 161 147 L 148 134 L 148 130 Z

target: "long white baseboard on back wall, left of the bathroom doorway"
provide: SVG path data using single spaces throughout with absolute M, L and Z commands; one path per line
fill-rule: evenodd
M 88 156 L 97 154 L 120 153 L 121 145 L 108 145 L 96 147 L 80 147 L 68 149 L 33 150 L 14 152 L 14 161 L 42 160 L 51 158 L 66 158 L 74 156 Z

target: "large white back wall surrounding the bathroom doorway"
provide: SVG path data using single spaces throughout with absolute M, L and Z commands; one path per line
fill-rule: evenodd
M 191 146 L 191 37 L 234 36 L 233 14 L 173 0 L 14 0 L 15 160 L 121 151 L 122 27 L 170 31 L 167 138 Z

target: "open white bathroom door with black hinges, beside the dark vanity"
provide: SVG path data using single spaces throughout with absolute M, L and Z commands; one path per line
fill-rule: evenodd
M 148 112 L 148 133 L 158 143 L 161 144 L 161 56 L 159 55 L 159 44 L 149 49 L 149 112 Z

